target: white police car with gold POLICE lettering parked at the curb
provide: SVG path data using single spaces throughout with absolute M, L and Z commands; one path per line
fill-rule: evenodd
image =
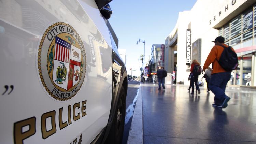
M 122 141 L 127 72 L 110 1 L 0 1 L 1 144 Z

